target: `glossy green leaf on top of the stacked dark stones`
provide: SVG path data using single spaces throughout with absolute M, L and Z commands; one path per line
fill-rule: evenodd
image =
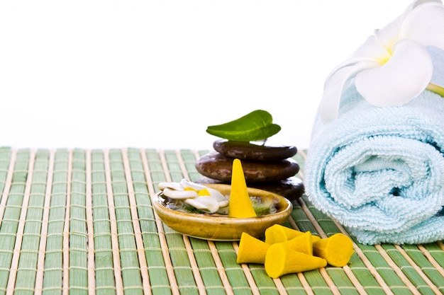
M 209 126 L 206 129 L 211 135 L 233 141 L 265 140 L 281 130 L 273 124 L 272 115 L 265 110 L 254 110 L 236 120 L 221 125 Z

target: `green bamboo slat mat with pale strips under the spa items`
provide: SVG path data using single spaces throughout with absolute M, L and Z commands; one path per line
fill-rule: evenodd
M 443 294 L 444 244 L 361 245 L 345 267 L 267 277 L 238 243 L 164 226 L 150 196 L 207 151 L 0 148 L 0 294 Z M 304 151 L 295 160 L 303 178 Z M 347 231 L 306 197 L 286 224 Z

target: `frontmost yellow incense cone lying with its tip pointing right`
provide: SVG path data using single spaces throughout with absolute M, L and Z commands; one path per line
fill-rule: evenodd
M 265 255 L 265 272 L 273 279 L 284 274 L 316 270 L 316 268 L 326 265 L 325 259 L 296 252 L 285 247 L 282 243 L 270 245 L 267 255 Z

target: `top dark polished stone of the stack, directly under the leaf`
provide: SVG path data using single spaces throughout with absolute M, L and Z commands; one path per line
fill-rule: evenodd
M 273 146 L 226 139 L 214 141 L 213 148 L 228 158 L 248 161 L 278 161 L 290 158 L 297 153 L 296 146 Z

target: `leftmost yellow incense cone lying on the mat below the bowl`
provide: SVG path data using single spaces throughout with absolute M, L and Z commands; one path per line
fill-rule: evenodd
M 250 236 L 248 233 L 242 233 L 236 262 L 264 264 L 268 248 L 270 248 L 270 245 L 267 243 Z

